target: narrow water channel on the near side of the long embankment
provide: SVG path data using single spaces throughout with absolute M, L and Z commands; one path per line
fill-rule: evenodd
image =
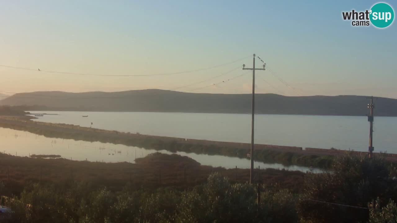
M 143 148 L 125 146 L 120 144 L 110 144 L 102 142 L 76 141 L 62 138 L 47 138 L 25 131 L 0 128 L 0 152 L 17 156 L 29 156 L 32 154 L 55 154 L 63 158 L 72 160 L 118 162 L 127 161 L 134 163 L 135 154 L 137 158 L 144 157 L 154 152 L 171 154 L 166 150 L 146 150 Z M 109 155 L 110 154 L 110 155 Z M 114 154 L 114 155 L 112 155 Z M 188 156 L 198 161 L 202 165 L 225 168 L 249 168 L 250 161 L 247 159 L 232 158 L 226 156 L 208 156 L 193 153 L 177 152 L 181 156 Z M 289 169 L 306 172 L 307 167 L 284 166 L 278 163 L 255 162 L 255 166 L 260 168 Z M 319 172 L 314 169 L 314 172 Z

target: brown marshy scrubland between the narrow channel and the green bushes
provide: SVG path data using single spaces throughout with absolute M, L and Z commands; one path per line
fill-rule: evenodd
M 76 181 L 93 183 L 94 187 L 122 190 L 131 188 L 175 187 L 181 190 L 205 183 L 211 173 L 220 173 L 234 183 L 249 181 L 249 169 L 225 169 L 200 165 L 197 161 L 176 154 L 155 153 L 138 158 L 136 163 L 75 161 L 64 158 L 45 159 L 12 156 L 0 153 L 0 182 L 19 194 L 26 183 L 64 185 Z M 306 173 L 280 169 L 256 170 L 264 185 L 301 190 Z M 297 184 L 298 183 L 298 184 Z

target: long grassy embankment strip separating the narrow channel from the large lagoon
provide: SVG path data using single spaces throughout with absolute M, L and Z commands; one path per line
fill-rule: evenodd
M 50 138 L 67 138 L 90 142 L 99 141 L 104 143 L 123 144 L 126 146 L 137 146 L 146 149 L 168 150 L 170 152 L 180 151 L 238 158 L 247 158 L 247 154 L 249 154 L 251 148 L 251 144 L 249 143 L 141 135 L 80 127 L 78 125 L 44 123 L 32 121 L 31 119 L 36 118 L 29 115 L 0 116 L 0 127 L 27 131 Z M 257 161 L 319 168 L 329 168 L 334 156 L 348 152 L 345 150 L 316 148 L 303 150 L 302 147 L 267 144 L 255 144 L 255 147 L 255 160 Z M 357 153 L 361 154 L 363 152 Z M 397 154 L 391 155 L 397 156 Z

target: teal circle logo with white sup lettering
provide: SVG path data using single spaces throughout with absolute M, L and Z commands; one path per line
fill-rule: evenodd
M 383 2 L 375 4 L 372 6 L 370 14 L 372 25 L 378 28 L 385 28 L 393 23 L 394 11 L 389 4 Z

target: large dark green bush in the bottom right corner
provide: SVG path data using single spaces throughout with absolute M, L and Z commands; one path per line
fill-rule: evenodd
M 313 223 L 368 221 L 368 210 L 320 202 L 366 207 L 377 197 L 382 202 L 395 200 L 397 183 L 389 167 L 380 156 L 370 159 L 349 153 L 335 158 L 330 172 L 306 178 L 299 213 L 306 222 Z

